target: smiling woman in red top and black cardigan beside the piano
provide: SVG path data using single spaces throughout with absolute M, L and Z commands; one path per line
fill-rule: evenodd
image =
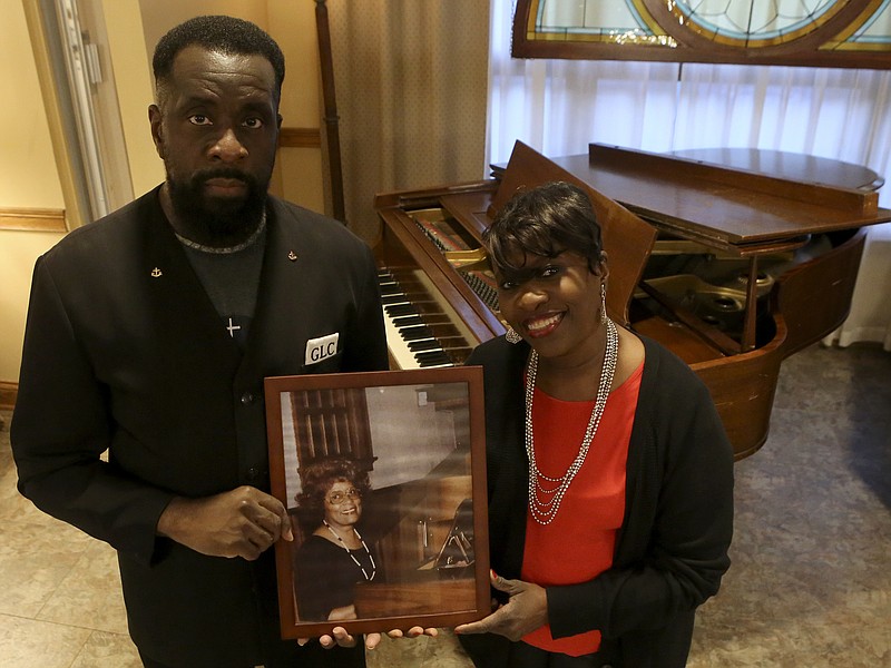
M 456 630 L 486 668 L 684 666 L 733 531 L 733 454 L 708 391 L 608 318 L 584 190 L 522 191 L 483 240 L 510 324 L 468 360 L 484 367 L 502 605 Z

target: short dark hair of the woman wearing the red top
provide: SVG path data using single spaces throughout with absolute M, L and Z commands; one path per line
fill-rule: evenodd
M 550 181 L 511 197 L 482 235 L 492 267 L 521 269 L 528 255 L 557 257 L 570 250 L 594 272 L 601 261 L 600 224 L 588 194 L 574 184 Z

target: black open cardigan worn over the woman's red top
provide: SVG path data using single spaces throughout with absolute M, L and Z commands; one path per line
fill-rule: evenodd
M 548 619 L 556 638 L 599 630 L 606 664 L 667 668 L 685 665 L 695 609 L 730 567 L 733 451 L 702 381 L 658 343 L 643 342 L 613 568 L 588 582 L 549 587 Z M 520 576 L 526 534 L 528 354 L 526 343 L 499 337 L 468 360 L 484 369 L 491 566 L 506 578 Z

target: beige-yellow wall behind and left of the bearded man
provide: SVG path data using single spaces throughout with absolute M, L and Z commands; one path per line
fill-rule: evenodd
M 200 13 L 229 13 L 265 28 L 282 46 L 287 76 L 282 115 L 287 127 L 320 124 L 315 3 L 311 0 L 101 0 L 108 49 L 119 97 L 134 193 L 164 177 L 148 130 L 151 102 L 148 53 L 179 21 Z M 3 2 L 0 21 L 0 207 L 63 208 L 47 116 L 38 85 L 22 0 Z M 319 149 L 280 151 L 272 189 L 309 208 L 324 209 Z M 0 383 L 17 382 L 37 257 L 61 233 L 0 229 Z

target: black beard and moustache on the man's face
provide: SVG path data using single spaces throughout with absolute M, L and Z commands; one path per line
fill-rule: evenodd
M 247 186 L 247 195 L 239 199 L 206 197 L 205 184 L 214 178 L 238 179 Z M 180 232 L 194 242 L 212 245 L 236 244 L 251 236 L 263 217 L 267 186 L 268 181 L 261 184 L 253 175 L 233 167 L 202 169 L 185 181 L 167 171 L 167 188 Z

